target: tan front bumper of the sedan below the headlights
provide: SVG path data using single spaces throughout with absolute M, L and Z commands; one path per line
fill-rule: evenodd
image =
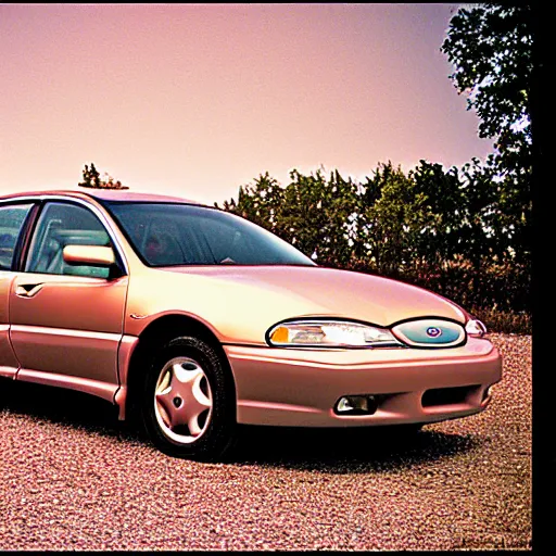
M 483 410 L 502 358 L 484 339 L 460 348 L 290 350 L 225 345 L 240 424 L 352 427 L 434 422 Z M 467 387 L 467 388 L 462 388 Z M 451 390 L 453 389 L 453 390 Z M 433 392 L 431 392 L 433 390 Z M 375 395 L 372 415 L 338 415 L 345 395 Z

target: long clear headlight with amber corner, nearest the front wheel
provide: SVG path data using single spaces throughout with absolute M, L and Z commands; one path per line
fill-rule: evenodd
M 292 320 L 268 330 L 276 348 L 392 348 L 403 345 L 386 328 L 342 320 Z

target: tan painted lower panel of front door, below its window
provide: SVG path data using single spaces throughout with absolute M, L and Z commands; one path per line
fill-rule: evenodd
M 18 274 L 10 313 L 12 345 L 22 367 L 118 384 L 127 281 Z M 22 296 L 18 288 L 36 293 Z

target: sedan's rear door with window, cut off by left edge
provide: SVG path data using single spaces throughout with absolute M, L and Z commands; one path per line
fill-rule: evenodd
M 15 273 L 17 240 L 33 203 L 0 204 L 0 376 L 14 377 L 18 363 L 10 342 L 9 301 Z

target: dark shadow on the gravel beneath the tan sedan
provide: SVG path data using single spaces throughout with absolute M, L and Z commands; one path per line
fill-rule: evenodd
M 26 415 L 122 442 L 149 444 L 142 430 L 117 419 L 109 402 L 77 391 L 34 383 L 0 381 L 0 410 Z M 418 432 L 399 427 L 321 429 L 240 426 L 225 465 L 261 465 L 327 473 L 387 472 L 414 467 L 478 448 L 476 434 Z M 161 457 L 167 457 L 161 454 Z

